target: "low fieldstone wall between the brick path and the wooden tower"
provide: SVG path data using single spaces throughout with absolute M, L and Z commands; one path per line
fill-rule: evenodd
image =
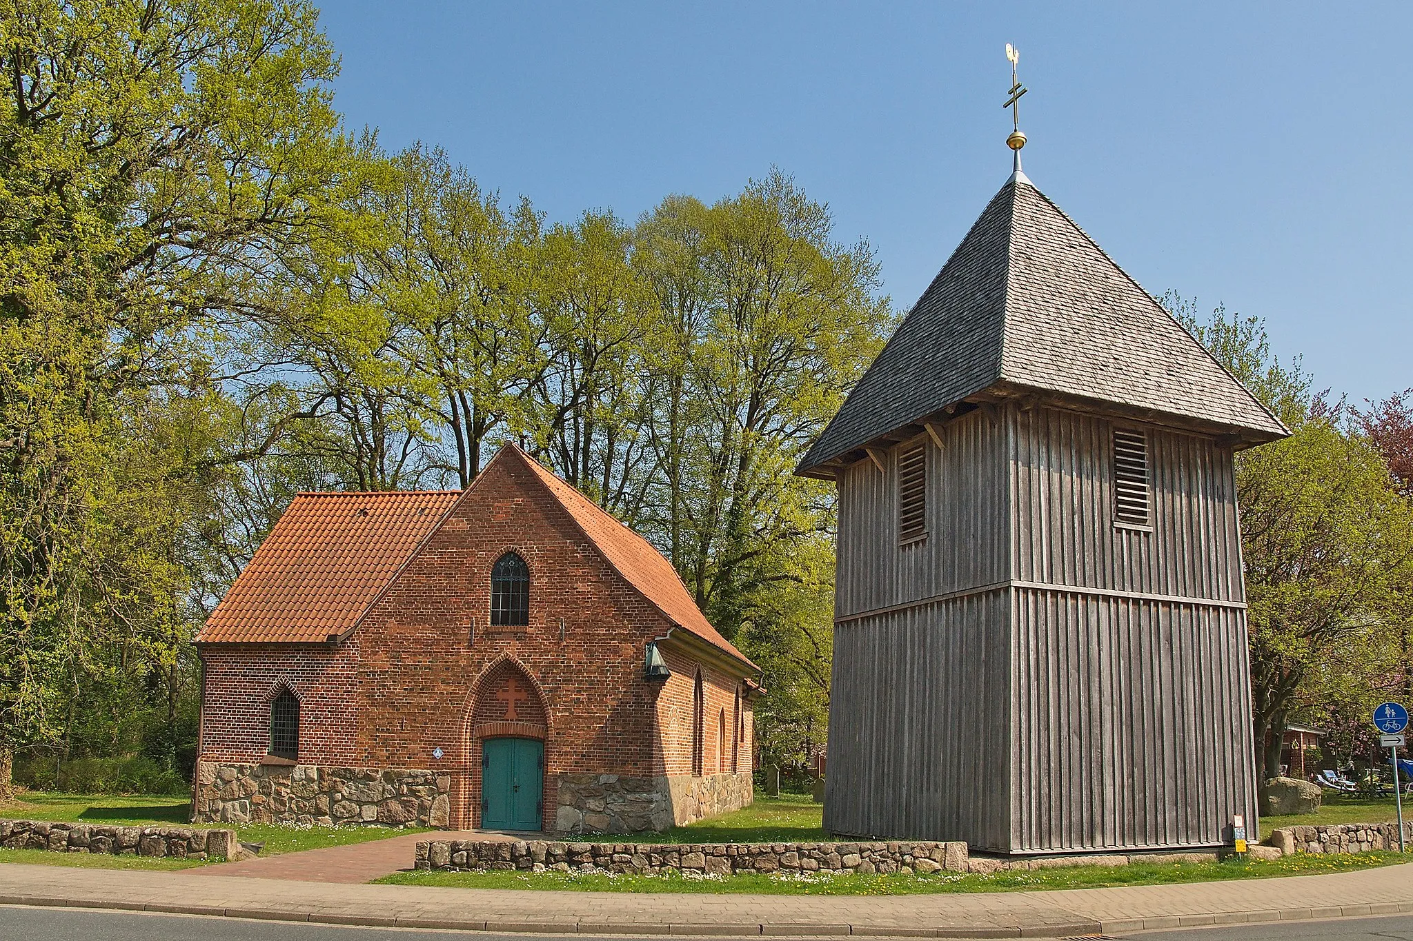
M 432 839 L 417 844 L 418 869 L 527 872 L 966 872 L 964 842 L 868 844 L 588 844 Z

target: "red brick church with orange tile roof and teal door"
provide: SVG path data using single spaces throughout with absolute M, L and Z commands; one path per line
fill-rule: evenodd
M 514 446 L 300 494 L 206 619 L 194 818 L 664 830 L 752 800 L 759 670 Z

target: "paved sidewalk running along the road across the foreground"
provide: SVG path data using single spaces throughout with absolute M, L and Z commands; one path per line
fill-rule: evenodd
M 858 897 L 353 886 L 0 863 L 0 904 L 538 934 L 1067 937 L 1413 911 L 1413 865 L 1177 886 Z

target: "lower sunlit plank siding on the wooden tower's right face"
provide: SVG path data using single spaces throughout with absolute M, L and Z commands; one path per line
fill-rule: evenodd
M 1017 588 L 1007 849 L 1202 846 L 1255 821 L 1242 621 Z

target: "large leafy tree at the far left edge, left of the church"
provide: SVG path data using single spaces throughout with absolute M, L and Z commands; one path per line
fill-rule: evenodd
M 164 389 L 215 388 L 213 350 L 345 166 L 315 20 L 235 0 L 0 13 L 0 752 L 62 734 L 73 684 L 133 650 L 124 618 L 174 656 L 182 566 L 153 490 L 194 480 L 161 461 L 202 449 L 144 426 L 171 416 Z

